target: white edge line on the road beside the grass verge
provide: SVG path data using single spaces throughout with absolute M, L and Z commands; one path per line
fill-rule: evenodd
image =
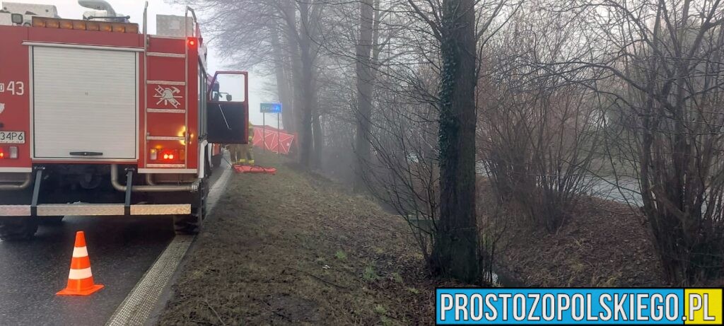
M 216 202 L 224 193 L 231 175 L 231 167 L 226 166 L 224 174 L 211 187 L 206 198 L 207 214 L 211 213 L 211 210 L 216 206 Z M 151 317 L 153 308 L 161 299 L 164 288 L 173 277 L 188 251 L 188 247 L 191 246 L 195 238 L 195 235 L 177 235 L 174 237 L 169 246 L 161 253 L 161 256 L 153 263 L 153 266 L 146 271 L 146 274 L 141 277 L 138 284 L 128 293 L 125 300 L 111 315 L 111 318 L 106 322 L 106 326 L 146 324 L 148 317 Z

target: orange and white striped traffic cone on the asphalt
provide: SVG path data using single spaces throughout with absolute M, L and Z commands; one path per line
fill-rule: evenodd
M 75 233 L 75 248 L 73 259 L 70 261 L 70 275 L 68 286 L 56 293 L 58 296 L 90 296 L 101 290 L 103 285 L 93 283 L 93 273 L 90 272 L 90 259 L 88 248 L 85 247 L 85 234 L 83 231 Z

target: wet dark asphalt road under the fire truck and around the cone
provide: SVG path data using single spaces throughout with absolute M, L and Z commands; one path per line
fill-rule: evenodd
M 79 230 L 93 277 L 105 288 L 56 296 L 67 285 Z M 171 217 L 65 217 L 41 225 L 33 241 L 0 241 L 0 325 L 104 325 L 173 238 Z

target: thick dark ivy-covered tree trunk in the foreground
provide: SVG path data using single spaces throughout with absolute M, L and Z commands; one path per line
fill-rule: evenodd
M 434 272 L 479 283 L 475 214 L 476 35 L 474 0 L 442 4 L 439 89 L 440 217 Z

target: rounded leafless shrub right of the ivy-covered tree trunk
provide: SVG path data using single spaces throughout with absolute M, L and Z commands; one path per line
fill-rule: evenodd
M 576 82 L 585 75 L 529 64 L 560 57 L 571 43 L 571 35 L 548 25 L 560 17 L 530 14 L 512 22 L 489 53 L 479 87 L 479 151 L 499 199 L 554 232 L 590 191 L 601 115 L 596 94 Z M 537 35 L 537 28 L 552 31 Z

